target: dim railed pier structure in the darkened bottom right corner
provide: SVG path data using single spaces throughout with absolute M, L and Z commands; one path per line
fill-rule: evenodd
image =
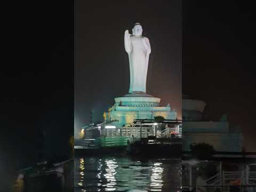
M 182 161 L 182 191 L 256 191 L 256 163 L 249 161 Z M 237 169 L 228 170 L 225 163 L 236 164 Z M 207 168 L 201 170 L 200 165 L 216 167 L 216 173 L 209 177 Z

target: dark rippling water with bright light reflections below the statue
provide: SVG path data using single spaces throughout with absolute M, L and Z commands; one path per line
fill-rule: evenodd
M 181 191 L 180 159 L 75 158 L 78 191 Z

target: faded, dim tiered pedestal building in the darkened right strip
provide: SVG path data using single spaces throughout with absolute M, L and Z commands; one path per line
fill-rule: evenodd
M 190 151 L 193 143 L 208 143 L 216 151 L 241 152 L 243 134 L 231 133 L 229 122 L 224 118 L 220 121 L 206 121 L 203 118 L 204 101 L 182 96 L 182 148 Z

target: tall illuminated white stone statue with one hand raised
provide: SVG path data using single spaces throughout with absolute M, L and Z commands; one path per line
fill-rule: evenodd
M 149 39 L 142 36 L 140 23 L 135 23 L 132 35 L 124 33 L 124 47 L 129 55 L 130 89 L 129 93 L 146 93 L 148 60 L 151 52 Z

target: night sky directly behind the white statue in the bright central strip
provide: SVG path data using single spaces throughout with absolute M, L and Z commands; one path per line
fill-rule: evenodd
M 114 98 L 129 91 L 124 31 L 140 22 L 151 54 L 147 93 L 170 103 L 181 116 L 181 1 L 77 1 L 75 123 L 101 120 Z

